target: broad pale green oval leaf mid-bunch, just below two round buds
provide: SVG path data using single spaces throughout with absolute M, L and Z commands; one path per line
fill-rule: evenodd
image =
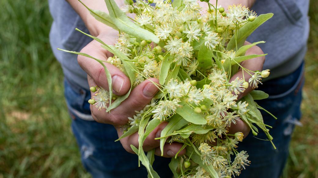
M 182 107 L 179 107 L 176 110 L 176 113 L 182 116 L 186 121 L 193 124 L 206 124 L 207 121 L 198 113 L 195 113 L 194 110 L 184 101 L 179 103 Z

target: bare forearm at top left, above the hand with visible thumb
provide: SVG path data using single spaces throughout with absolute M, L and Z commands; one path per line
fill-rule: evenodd
M 81 0 L 87 7 L 93 10 L 101 10 L 108 13 L 106 4 L 104 0 Z M 73 7 L 73 9 L 79 14 L 81 19 L 84 21 L 87 29 L 90 34 L 97 36 L 102 30 L 105 30 L 108 27 L 107 25 L 97 21 L 86 9 L 86 7 L 80 3 L 78 0 L 67 0 L 67 2 Z M 117 5 L 120 7 L 124 2 L 123 0 L 117 0 Z

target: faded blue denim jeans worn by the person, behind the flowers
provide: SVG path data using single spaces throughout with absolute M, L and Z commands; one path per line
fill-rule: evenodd
M 266 112 L 262 112 L 265 124 L 273 126 L 270 134 L 277 149 L 274 150 L 269 141 L 260 140 L 267 138 L 262 130 L 259 129 L 259 135 L 256 136 L 260 139 L 249 134 L 239 143 L 238 148 L 247 151 L 251 165 L 242 171 L 239 178 L 280 176 L 287 160 L 294 124 L 301 118 L 303 67 L 304 64 L 294 73 L 266 81 L 259 87 L 259 90 L 268 93 L 270 97 L 257 101 L 258 104 L 278 118 L 275 120 Z M 87 103 L 91 98 L 89 91 L 65 80 L 65 96 L 73 118 L 72 130 L 80 148 L 82 163 L 93 177 L 147 177 L 146 169 L 138 168 L 138 157 L 125 151 L 120 142 L 114 142 L 118 138 L 114 127 L 91 121 Z M 153 167 L 160 177 L 172 177 L 168 167 L 170 158 L 156 156 L 155 160 Z

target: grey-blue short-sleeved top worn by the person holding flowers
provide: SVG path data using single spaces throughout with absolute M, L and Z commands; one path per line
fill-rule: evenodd
M 50 32 L 53 53 L 61 63 L 65 78 L 73 85 L 88 89 L 87 76 L 79 67 L 77 55 L 57 48 L 80 51 L 92 39 L 75 28 L 89 32 L 66 0 L 49 0 L 49 6 L 54 20 Z M 271 75 L 266 79 L 292 73 L 302 63 L 309 33 L 308 8 L 309 0 L 256 0 L 253 5 L 252 10 L 258 14 L 274 13 L 247 39 L 249 42 L 266 41 L 258 45 L 268 53 L 264 69 L 271 69 Z

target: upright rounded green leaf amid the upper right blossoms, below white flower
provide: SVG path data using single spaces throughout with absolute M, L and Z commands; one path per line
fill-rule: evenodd
M 206 46 L 202 45 L 201 48 L 199 49 L 198 53 L 198 62 L 199 62 L 199 67 L 202 68 L 209 68 L 212 66 L 212 57 L 213 57 L 213 52 L 207 48 Z

